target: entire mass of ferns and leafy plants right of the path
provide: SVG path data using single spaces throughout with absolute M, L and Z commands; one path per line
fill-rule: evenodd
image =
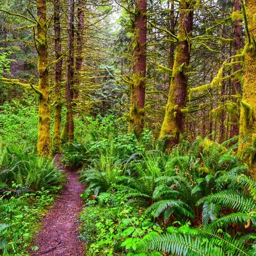
M 138 141 L 116 120 L 93 123 L 65 158 L 88 185 L 86 255 L 256 255 L 256 182 L 239 143 L 198 137 L 167 154 L 146 130 Z

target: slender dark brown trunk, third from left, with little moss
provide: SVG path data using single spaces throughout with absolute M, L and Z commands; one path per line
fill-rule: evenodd
M 74 120 L 72 113 L 72 100 L 74 97 L 74 0 L 68 0 L 68 57 L 66 77 L 67 118 L 63 132 L 63 140 L 70 143 L 74 140 Z

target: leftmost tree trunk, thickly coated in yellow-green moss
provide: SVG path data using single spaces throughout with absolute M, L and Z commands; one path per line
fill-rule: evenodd
M 51 155 L 51 113 L 49 102 L 49 72 L 48 72 L 48 44 L 46 0 L 37 0 L 37 44 L 38 51 L 38 154 Z

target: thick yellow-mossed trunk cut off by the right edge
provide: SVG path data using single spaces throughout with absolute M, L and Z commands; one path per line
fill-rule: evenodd
M 255 0 L 247 0 L 243 6 L 247 42 L 244 46 L 243 63 L 243 98 L 241 101 L 239 133 L 243 138 L 250 138 L 249 145 L 256 147 L 256 4 Z M 239 147 L 243 150 L 245 145 Z M 246 157 L 248 163 L 255 166 L 255 154 Z

